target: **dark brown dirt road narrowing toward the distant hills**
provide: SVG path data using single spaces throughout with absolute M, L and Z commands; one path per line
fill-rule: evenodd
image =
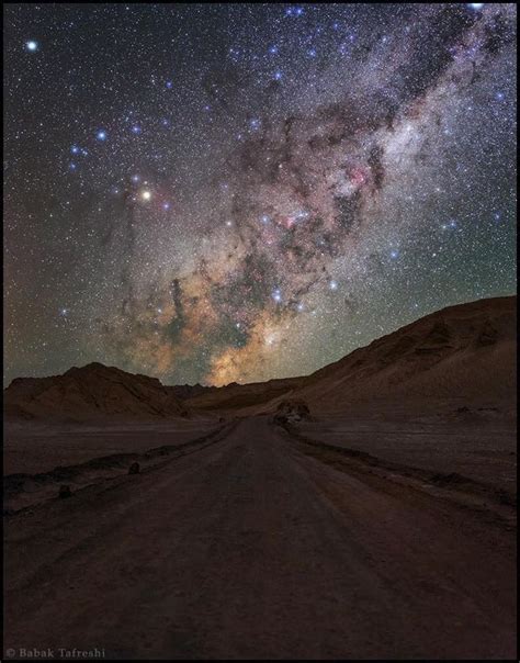
M 251 417 L 7 518 L 5 649 L 512 659 L 513 508 Z

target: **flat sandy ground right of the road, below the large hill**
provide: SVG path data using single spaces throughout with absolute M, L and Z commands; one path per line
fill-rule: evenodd
M 516 419 L 500 412 L 453 409 L 417 417 L 329 416 L 305 422 L 298 430 L 312 439 L 355 449 L 412 468 L 456 472 L 516 492 Z

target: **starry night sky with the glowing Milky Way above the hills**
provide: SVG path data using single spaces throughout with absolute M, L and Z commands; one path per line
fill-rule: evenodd
M 309 373 L 516 288 L 513 4 L 8 4 L 8 383 Z

